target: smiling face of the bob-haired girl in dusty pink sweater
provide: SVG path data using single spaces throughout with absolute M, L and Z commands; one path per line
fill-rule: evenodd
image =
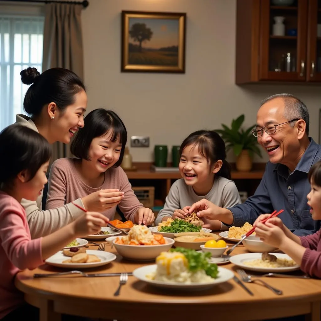
M 90 160 L 82 160 L 99 173 L 103 173 L 108 168 L 113 167 L 119 160 L 122 144 L 119 138 L 112 142 L 112 134 L 113 132 L 109 130 L 103 136 L 95 137 L 89 147 L 88 156 Z

